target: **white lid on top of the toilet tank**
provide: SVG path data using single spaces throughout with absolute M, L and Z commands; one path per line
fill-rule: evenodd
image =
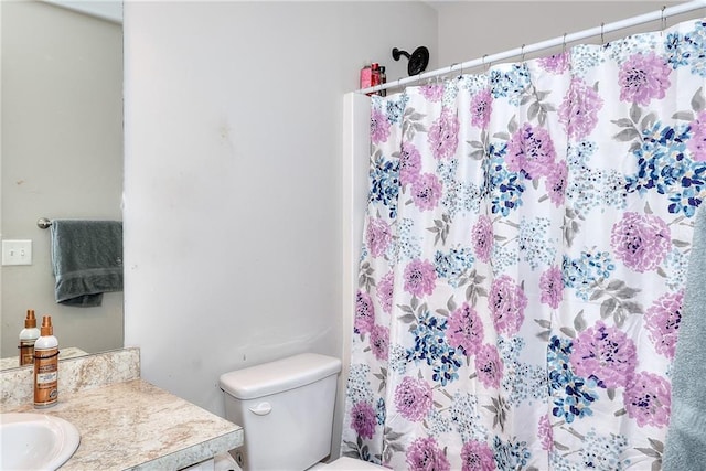
M 255 399 L 306 386 L 341 371 L 341 361 L 318 353 L 301 353 L 270 363 L 224 373 L 221 389 L 237 399 Z

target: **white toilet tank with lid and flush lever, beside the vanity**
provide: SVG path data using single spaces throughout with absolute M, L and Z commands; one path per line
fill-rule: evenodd
M 243 427 L 246 470 L 301 471 L 329 456 L 341 361 L 315 353 L 221 375 L 226 418 Z

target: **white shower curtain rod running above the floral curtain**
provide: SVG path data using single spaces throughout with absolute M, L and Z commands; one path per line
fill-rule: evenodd
M 421 73 L 419 75 L 415 75 L 411 77 L 399 78 L 397 81 L 392 81 L 383 85 L 376 85 L 374 87 L 362 88 L 356 93 L 360 94 L 371 94 L 378 90 L 384 90 L 387 88 L 399 87 L 402 85 L 411 84 L 415 82 L 420 82 L 426 78 L 439 77 L 441 75 L 448 75 L 457 71 L 471 69 L 479 66 L 490 65 L 495 62 L 504 61 L 511 57 L 523 56 L 525 54 L 531 54 L 534 52 L 548 50 L 557 46 L 565 46 L 567 43 L 571 43 L 575 41 L 582 41 L 592 36 L 603 36 L 607 33 L 611 33 L 618 30 L 624 30 L 625 28 L 637 26 L 643 23 L 648 23 L 650 21 L 662 20 L 666 21 L 670 17 L 674 17 L 675 14 L 687 13 L 689 11 L 698 10 L 699 8 L 706 8 L 706 0 L 692 0 L 686 3 L 680 3 L 674 7 L 663 8 L 662 10 L 653 11 L 651 13 L 639 14 L 637 17 L 628 18 L 624 20 L 619 20 L 608 24 L 601 24 L 600 26 L 590 28 L 588 30 L 579 31 L 576 33 L 564 34 L 561 36 L 554 38 L 552 40 L 541 41 L 534 44 L 523 45 L 522 47 L 515 47 L 510 51 L 500 52 L 492 55 L 484 55 L 480 58 L 474 58 L 472 61 L 467 61 L 460 64 L 452 64 L 448 67 L 437 68 L 436 71 L 429 71 Z

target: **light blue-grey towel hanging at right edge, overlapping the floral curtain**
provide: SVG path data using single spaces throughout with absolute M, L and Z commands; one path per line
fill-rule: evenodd
M 672 416 L 662 469 L 706 468 L 706 211 L 698 210 L 689 255 L 680 336 L 672 366 Z

